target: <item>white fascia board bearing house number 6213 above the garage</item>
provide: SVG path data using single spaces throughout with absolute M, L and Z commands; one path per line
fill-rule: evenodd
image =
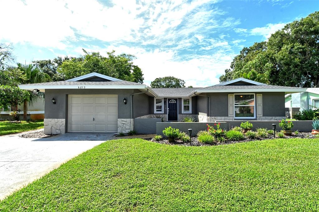
M 85 87 L 85 88 L 78 88 Z M 19 85 L 24 90 L 33 89 L 145 89 L 145 85 Z

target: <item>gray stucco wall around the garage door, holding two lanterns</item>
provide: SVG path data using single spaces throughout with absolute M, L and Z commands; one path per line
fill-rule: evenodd
M 131 109 L 130 109 L 130 95 L 133 93 L 140 93 L 140 90 L 137 89 L 46 89 L 45 90 L 45 118 L 65 118 L 67 119 L 68 111 L 68 95 L 69 94 L 116 94 L 118 95 L 118 118 L 131 118 Z M 135 97 L 135 98 L 134 98 Z M 56 104 L 52 104 L 52 98 L 56 100 Z M 127 99 L 127 104 L 123 103 L 123 99 Z M 144 95 L 134 95 L 133 101 L 143 102 L 147 101 L 147 97 Z M 147 103 L 145 104 L 146 111 L 148 111 Z M 134 117 L 138 117 L 140 113 L 136 111 Z M 147 113 L 145 111 L 145 114 Z M 144 113 L 144 112 L 143 112 Z M 147 115 L 147 114 L 146 114 Z M 133 118 L 134 118 L 133 117 Z

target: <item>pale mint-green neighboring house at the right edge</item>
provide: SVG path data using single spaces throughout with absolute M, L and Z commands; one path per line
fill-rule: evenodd
M 319 108 L 319 88 L 306 88 L 305 92 L 285 95 L 286 117 L 309 110 L 309 105 Z

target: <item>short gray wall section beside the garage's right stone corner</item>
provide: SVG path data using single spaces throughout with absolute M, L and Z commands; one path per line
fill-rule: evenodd
M 137 133 L 155 134 L 156 123 L 161 121 L 160 118 L 134 118 L 134 130 Z

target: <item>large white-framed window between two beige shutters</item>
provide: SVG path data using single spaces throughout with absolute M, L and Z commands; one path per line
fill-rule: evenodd
M 256 118 L 255 94 L 234 94 L 235 118 Z

